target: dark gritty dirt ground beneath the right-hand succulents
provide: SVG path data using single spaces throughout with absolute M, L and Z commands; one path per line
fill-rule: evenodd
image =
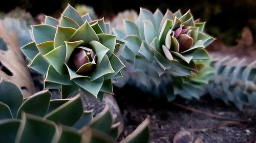
M 122 137 L 150 117 L 152 143 L 173 142 L 175 134 L 181 130 L 191 131 L 193 142 L 256 142 L 256 110 L 251 107 L 239 111 L 234 105 L 227 106 L 221 100 L 212 100 L 210 96 L 204 96 L 200 101 L 181 98 L 174 101 L 222 117 L 252 121 L 239 123 L 187 111 L 131 87 L 116 88 L 114 91 L 124 119 Z

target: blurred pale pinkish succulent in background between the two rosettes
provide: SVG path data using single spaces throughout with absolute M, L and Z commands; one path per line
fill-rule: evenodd
M 123 28 L 123 20 L 129 20 L 132 22 L 136 22 L 138 19 L 138 14 L 135 10 L 125 10 L 123 12 L 119 12 L 116 17 L 113 18 L 110 25 L 115 28 Z

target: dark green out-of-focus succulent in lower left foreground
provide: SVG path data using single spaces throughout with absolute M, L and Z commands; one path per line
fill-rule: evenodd
M 79 95 L 50 100 L 45 90 L 23 99 L 15 84 L 3 80 L 0 91 L 0 142 L 114 143 L 121 132 L 108 107 L 93 118 L 92 110 L 83 110 Z M 149 142 L 148 124 L 146 119 L 122 142 Z

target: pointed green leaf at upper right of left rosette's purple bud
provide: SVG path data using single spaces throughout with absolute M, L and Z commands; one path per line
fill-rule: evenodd
M 110 34 L 98 34 L 99 42 L 102 43 L 106 48 L 110 50 L 106 53 L 106 55 L 110 56 L 113 54 L 116 46 L 116 36 Z

